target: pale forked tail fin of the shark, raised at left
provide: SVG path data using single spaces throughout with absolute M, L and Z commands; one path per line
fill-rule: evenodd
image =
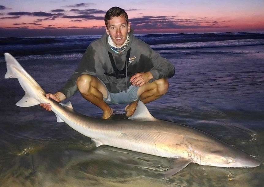
M 6 75 L 5 79 L 17 78 L 25 91 L 25 96 L 17 102 L 17 106 L 30 107 L 40 104 L 38 94 L 45 95 L 40 85 L 28 74 L 18 61 L 9 53 L 5 53 Z

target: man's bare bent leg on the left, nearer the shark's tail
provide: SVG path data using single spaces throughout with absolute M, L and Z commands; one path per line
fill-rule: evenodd
M 107 97 L 105 86 L 95 76 L 83 74 L 76 81 L 77 87 L 86 100 L 103 110 L 103 119 L 108 119 L 113 110 L 105 102 L 103 97 Z

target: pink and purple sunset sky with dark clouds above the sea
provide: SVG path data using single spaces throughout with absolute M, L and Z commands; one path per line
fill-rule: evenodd
M 113 6 L 135 33 L 264 31 L 263 0 L 1 0 L 0 37 L 102 34 Z

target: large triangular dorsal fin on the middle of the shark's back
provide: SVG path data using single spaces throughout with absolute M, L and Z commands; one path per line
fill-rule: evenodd
M 137 107 L 128 119 L 134 120 L 141 120 L 141 121 L 156 121 L 157 119 L 154 118 L 150 113 L 144 103 L 138 100 Z

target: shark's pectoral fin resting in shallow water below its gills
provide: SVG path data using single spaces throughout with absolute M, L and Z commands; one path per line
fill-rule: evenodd
M 175 173 L 181 171 L 183 168 L 185 168 L 188 164 L 190 163 L 190 160 L 185 159 L 185 158 L 176 158 L 172 166 L 168 171 L 165 171 L 165 177 L 170 177 L 174 175 Z

